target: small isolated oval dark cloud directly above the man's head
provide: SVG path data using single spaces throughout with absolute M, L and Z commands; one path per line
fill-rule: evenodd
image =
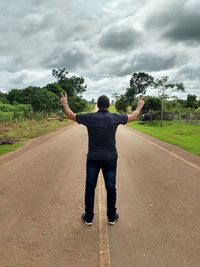
M 141 34 L 132 28 L 111 27 L 102 33 L 99 45 L 111 50 L 131 49 L 141 39 Z

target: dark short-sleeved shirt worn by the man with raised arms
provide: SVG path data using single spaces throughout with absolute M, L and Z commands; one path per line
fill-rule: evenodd
M 88 130 L 88 159 L 101 160 L 118 157 L 115 133 L 119 124 L 127 123 L 126 114 L 98 110 L 94 113 L 77 114 L 76 120 L 85 125 Z

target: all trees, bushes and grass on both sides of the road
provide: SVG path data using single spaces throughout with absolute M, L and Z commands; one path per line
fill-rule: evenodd
M 94 110 L 95 100 L 82 97 L 87 88 L 83 77 L 69 76 L 65 68 L 53 69 L 52 75 L 55 82 L 43 87 L 0 92 L 0 155 L 69 123 L 60 103 L 61 93 L 67 93 L 75 113 Z M 146 95 L 147 89 L 157 96 Z M 130 113 L 143 95 L 140 121 L 129 126 L 200 155 L 200 99 L 191 94 L 185 100 L 174 95 L 184 91 L 181 82 L 170 83 L 167 76 L 154 79 L 144 72 L 133 73 L 125 93 L 113 94 L 109 111 Z

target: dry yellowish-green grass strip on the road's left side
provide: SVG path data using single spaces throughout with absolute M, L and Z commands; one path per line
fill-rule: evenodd
M 67 124 L 69 124 L 68 120 L 48 121 L 43 119 L 40 121 L 28 120 L 18 124 L 1 126 L 0 138 L 11 138 L 15 140 L 15 143 L 12 145 L 0 145 L 0 155 L 14 151 L 18 147 L 23 146 L 28 140 L 55 131 Z

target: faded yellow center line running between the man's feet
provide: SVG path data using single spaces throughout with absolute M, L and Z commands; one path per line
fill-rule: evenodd
M 108 239 L 108 226 L 106 218 L 106 201 L 103 175 L 99 177 L 99 242 L 100 242 L 100 267 L 110 267 L 110 246 Z

